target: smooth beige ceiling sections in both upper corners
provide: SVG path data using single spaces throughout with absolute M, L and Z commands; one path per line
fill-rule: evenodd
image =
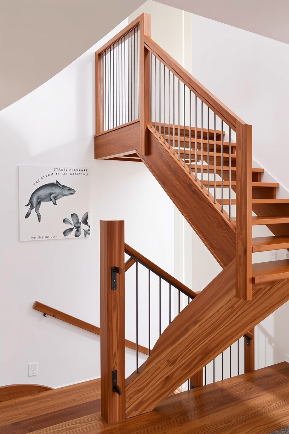
M 0 109 L 77 59 L 143 0 L 0 0 Z M 159 0 L 289 43 L 289 0 Z

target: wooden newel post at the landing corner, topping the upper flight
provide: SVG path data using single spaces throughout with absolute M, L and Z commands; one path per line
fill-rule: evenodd
M 150 52 L 144 36 L 150 36 L 150 15 L 140 16 L 140 155 L 148 155 L 147 128 L 150 125 Z

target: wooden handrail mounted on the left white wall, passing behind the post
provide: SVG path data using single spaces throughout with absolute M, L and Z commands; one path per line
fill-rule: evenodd
M 81 319 L 75 318 L 75 316 L 68 315 L 67 313 L 61 312 L 60 310 L 54 309 L 53 307 L 47 306 L 46 304 L 40 303 L 39 301 L 36 301 L 32 307 L 33 309 L 38 310 L 45 315 L 53 316 L 53 318 L 57 318 L 61 321 L 67 322 L 68 324 L 75 325 L 76 327 L 87 330 L 88 332 L 94 333 L 95 335 L 100 336 L 101 334 L 101 329 L 100 327 L 97 327 L 97 325 L 82 321 Z M 126 339 L 125 346 L 136 351 L 135 342 Z M 139 344 L 138 349 L 140 353 L 149 355 L 149 349 L 144 347 L 143 345 Z

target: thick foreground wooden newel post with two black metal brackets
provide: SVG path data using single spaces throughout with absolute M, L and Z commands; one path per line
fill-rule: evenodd
M 100 222 L 101 416 L 125 419 L 124 221 Z

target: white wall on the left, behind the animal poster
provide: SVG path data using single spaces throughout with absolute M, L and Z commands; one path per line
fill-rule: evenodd
M 173 270 L 173 206 L 162 188 L 141 163 L 94 160 L 94 52 L 104 42 L 0 112 L 0 385 L 100 375 L 98 336 L 32 309 L 38 300 L 100 325 L 100 219 L 125 220 L 126 242 Z M 19 242 L 19 164 L 91 169 L 90 239 Z M 30 362 L 37 376 L 28 377 Z

